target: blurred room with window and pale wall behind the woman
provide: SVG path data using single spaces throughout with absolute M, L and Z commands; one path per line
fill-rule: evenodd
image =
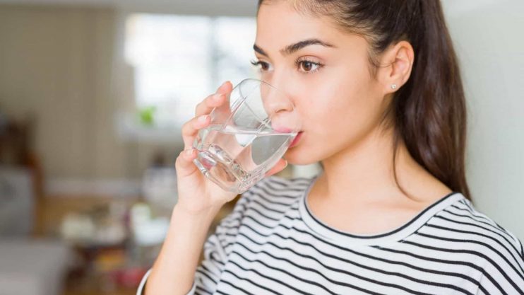
M 182 123 L 256 76 L 256 2 L 0 0 L 1 295 L 134 294 L 177 202 Z M 524 2 L 443 5 L 474 203 L 524 239 Z

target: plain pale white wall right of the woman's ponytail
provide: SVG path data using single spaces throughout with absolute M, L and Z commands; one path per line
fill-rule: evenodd
M 469 107 L 474 202 L 524 239 L 524 1 L 445 1 Z

